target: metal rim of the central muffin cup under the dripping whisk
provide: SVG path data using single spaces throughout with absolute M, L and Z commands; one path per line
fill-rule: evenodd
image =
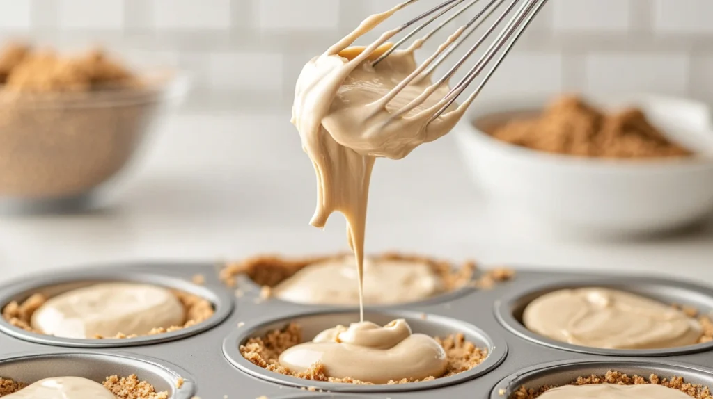
M 384 314 L 389 316 L 394 316 L 394 318 L 403 319 L 424 319 L 424 312 L 417 312 L 410 309 L 384 309 L 384 310 L 371 310 L 369 313 Z M 488 357 L 482 363 L 471 368 L 468 371 L 463 371 L 454 376 L 436 378 L 431 381 L 420 381 L 417 383 L 404 383 L 404 384 L 374 384 L 374 385 L 356 385 L 352 383 L 330 383 L 325 381 L 312 381 L 306 380 L 304 378 L 297 378 L 292 376 L 285 376 L 280 373 L 275 373 L 273 371 L 268 371 L 265 368 L 257 366 L 252 362 L 248 361 L 242 356 L 240 350 L 238 349 L 243 341 L 250 338 L 255 334 L 256 331 L 261 329 L 266 329 L 272 324 L 284 324 L 292 319 L 299 319 L 309 316 L 321 316 L 324 314 L 356 314 L 358 311 L 354 309 L 319 309 L 312 312 L 298 312 L 289 316 L 280 316 L 275 319 L 262 320 L 257 322 L 246 323 L 244 326 L 240 326 L 234 329 L 230 334 L 223 340 L 222 343 L 222 353 L 227 361 L 237 368 L 242 373 L 245 373 L 254 378 L 259 378 L 262 381 L 268 381 L 270 383 L 276 383 L 279 385 L 288 385 L 296 388 L 314 387 L 317 389 L 322 389 L 324 391 L 329 391 L 330 393 L 361 393 L 361 394 L 373 394 L 373 393 L 400 393 L 409 391 L 422 391 L 429 390 L 433 388 L 443 388 L 450 385 L 456 385 L 459 383 L 464 383 L 473 378 L 483 376 L 494 369 L 505 361 L 508 356 L 508 344 L 505 339 L 501 336 L 488 334 L 487 331 L 479 328 L 478 326 L 462 321 L 460 319 L 455 319 L 449 316 L 441 316 L 439 314 L 425 314 L 425 321 L 434 321 L 436 324 L 446 324 L 455 325 L 460 328 L 457 331 L 460 332 L 471 332 L 483 338 L 488 344 Z M 440 321 L 440 322 L 439 322 Z

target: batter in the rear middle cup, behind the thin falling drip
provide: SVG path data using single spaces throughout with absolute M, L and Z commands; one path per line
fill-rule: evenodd
M 441 277 L 426 262 L 364 260 L 364 303 L 399 304 L 443 291 Z M 274 297 L 306 304 L 358 304 L 359 277 L 354 257 L 304 267 L 272 289 Z

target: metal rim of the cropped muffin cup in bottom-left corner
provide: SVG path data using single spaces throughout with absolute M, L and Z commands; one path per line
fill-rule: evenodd
M 137 353 L 127 353 L 127 352 L 101 352 L 101 351 L 81 351 L 81 350 L 60 350 L 60 351 L 31 351 L 31 352 L 17 352 L 9 353 L 4 356 L 0 356 L 0 364 L 11 363 L 16 361 L 24 361 L 30 358 L 53 358 L 53 357 L 103 357 L 103 358 L 123 358 L 125 361 L 143 363 L 149 365 L 152 368 L 158 369 L 160 372 L 155 373 L 158 376 L 165 378 L 171 384 L 170 399 L 191 399 L 193 398 L 193 393 L 195 393 L 197 383 L 195 378 L 188 373 L 184 368 L 181 368 L 175 363 L 170 361 L 164 361 L 158 358 L 153 358 L 150 356 L 143 356 Z M 137 370 L 137 375 L 140 370 Z M 110 376 L 108 374 L 107 376 Z M 123 376 L 125 377 L 125 376 Z M 8 377 L 5 377 L 8 378 Z M 141 376 L 138 376 L 141 380 Z M 183 378 L 183 383 L 178 387 L 178 378 Z M 24 381 L 23 381 L 24 382 Z

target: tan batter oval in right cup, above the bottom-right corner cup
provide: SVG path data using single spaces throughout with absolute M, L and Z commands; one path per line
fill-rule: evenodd
M 525 326 L 569 344 L 657 349 L 696 344 L 697 320 L 653 299 L 606 288 L 562 289 L 525 308 Z

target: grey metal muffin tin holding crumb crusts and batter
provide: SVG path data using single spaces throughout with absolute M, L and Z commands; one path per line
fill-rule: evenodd
M 245 277 L 225 287 L 212 263 L 135 263 L 26 277 L 0 287 L 0 306 L 34 292 L 56 294 L 99 281 L 148 282 L 182 289 L 209 299 L 216 314 L 203 324 L 174 333 L 137 339 L 76 340 L 28 333 L 0 320 L 0 376 L 27 383 L 50 376 L 84 376 L 96 381 L 111 374 L 139 378 L 173 399 L 398 399 L 507 398 L 520 385 L 561 385 L 578 376 L 613 369 L 628 374 L 683 376 L 713 388 L 713 344 L 676 349 L 610 351 L 558 343 L 531 334 L 519 318 L 528 301 L 553 289 L 603 286 L 662 302 L 692 305 L 713 313 L 713 289 L 648 277 L 606 277 L 565 272 L 518 272 L 493 289 L 465 289 L 426 302 L 367 307 L 378 323 L 403 317 L 414 332 L 446 335 L 463 332 L 491 355 L 473 370 L 450 378 L 402 385 L 350 385 L 307 381 L 265 371 L 245 361 L 237 346 L 250 336 L 297 321 L 305 339 L 317 331 L 358 319 L 356 307 L 294 304 L 260 298 Z M 205 284 L 191 282 L 203 275 Z M 176 388 L 178 377 L 184 378 Z M 312 392 L 305 388 L 316 389 Z M 320 391 L 321 390 L 321 391 Z M 501 394 L 502 392 L 502 394 Z

